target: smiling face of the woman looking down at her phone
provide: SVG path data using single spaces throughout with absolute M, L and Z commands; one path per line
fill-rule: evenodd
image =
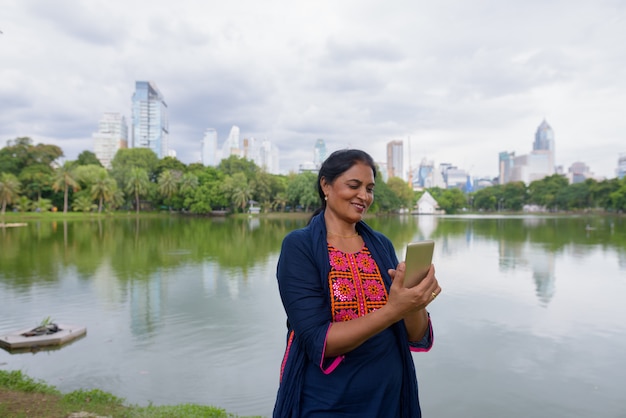
M 325 178 L 321 184 L 328 197 L 326 210 L 349 223 L 360 221 L 374 201 L 374 172 L 362 162 L 350 167 L 332 184 Z

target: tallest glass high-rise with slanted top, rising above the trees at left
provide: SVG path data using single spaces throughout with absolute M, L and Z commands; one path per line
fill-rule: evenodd
M 131 148 L 149 148 L 168 155 L 169 114 L 163 95 L 152 81 L 135 82 L 132 100 Z

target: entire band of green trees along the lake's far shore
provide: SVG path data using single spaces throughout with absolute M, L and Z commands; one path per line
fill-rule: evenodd
M 0 213 L 10 210 L 112 212 L 171 210 L 192 214 L 213 211 L 243 213 L 250 202 L 263 212 L 312 211 L 319 205 L 317 176 L 311 172 L 270 174 L 253 161 L 230 156 L 217 167 L 184 164 L 174 157 L 159 159 L 145 148 L 120 149 L 111 168 L 95 154 L 83 151 L 74 161 L 59 164 L 63 150 L 34 145 L 29 137 L 7 141 L 0 149 Z M 424 191 L 407 182 L 378 176 L 373 213 L 413 208 Z M 569 184 L 561 175 L 487 187 L 430 188 L 446 213 L 461 211 L 522 211 L 527 205 L 545 211 L 626 210 L 626 178 Z

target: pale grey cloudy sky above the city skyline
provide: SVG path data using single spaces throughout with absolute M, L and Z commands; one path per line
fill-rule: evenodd
M 0 146 L 29 136 L 75 159 L 150 80 L 184 163 L 233 125 L 285 172 L 318 138 L 377 161 L 400 139 L 413 166 L 496 176 L 544 119 L 565 169 L 615 177 L 626 152 L 623 0 L 3 0 L 0 31 Z

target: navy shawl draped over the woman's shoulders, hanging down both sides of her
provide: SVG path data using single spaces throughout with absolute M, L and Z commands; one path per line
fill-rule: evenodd
M 365 245 L 378 264 L 380 273 L 387 288 L 391 286 L 391 277 L 387 273 L 390 268 L 395 269 L 398 259 L 391 241 L 380 232 L 371 229 L 365 222 L 356 224 L 356 231 L 362 236 Z M 294 264 L 295 263 L 295 264 Z M 294 269 L 300 274 L 295 277 L 287 271 Z M 306 294 L 293 294 L 285 290 L 285 280 L 302 280 L 310 283 L 311 288 L 325 290 L 329 298 L 328 273 L 330 262 L 326 242 L 326 225 L 324 211 L 315 215 L 304 228 L 290 232 L 282 243 L 281 254 L 277 266 L 277 278 L 281 290 L 281 299 L 287 312 L 287 348 L 281 365 L 280 385 L 274 405 L 274 418 L 297 418 L 300 411 L 300 394 L 303 387 L 303 375 L 306 362 L 319 364 L 325 367 L 324 342 L 326 333 L 332 322 L 330 300 L 328 300 L 328 317 L 312 318 L 306 309 Z M 312 281 L 319 280 L 319 283 Z M 306 286 L 304 286 L 306 287 Z M 291 309 L 290 309 L 291 308 Z M 297 318 L 290 318 L 289 312 Z M 404 321 L 391 326 L 400 347 L 403 368 L 401 411 L 403 418 L 421 416 L 417 377 Z M 429 325 L 430 328 L 430 325 Z M 432 328 L 430 329 L 430 344 L 432 344 Z M 411 344 L 413 345 L 413 344 Z M 422 350 L 423 351 L 423 350 Z M 335 358 L 331 368 L 342 360 L 342 356 Z M 332 370 L 328 371 L 330 373 Z M 324 371 L 326 373 L 326 371 Z

